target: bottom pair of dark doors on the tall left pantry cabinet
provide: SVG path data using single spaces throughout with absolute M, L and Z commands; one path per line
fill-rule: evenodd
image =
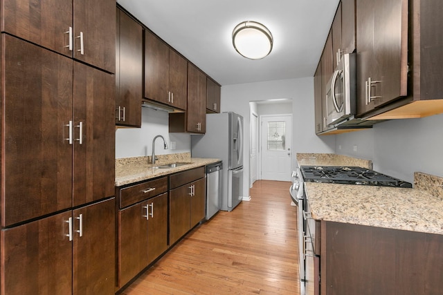
M 114 294 L 114 220 L 112 198 L 3 229 L 1 294 Z

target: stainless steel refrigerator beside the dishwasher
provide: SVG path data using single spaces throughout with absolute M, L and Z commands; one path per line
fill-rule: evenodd
M 243 117 L 207 114 L 206 133 L 191 136 L 191 155 L 223 161 L 220 209 L 232 211 L 243 198 Z

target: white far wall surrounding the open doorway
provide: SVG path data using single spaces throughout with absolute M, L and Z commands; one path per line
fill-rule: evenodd
M 250 138 L 249 102 L 292 99 L 293 166 L 296 153 L 334 153 L 335 136 L 318 137 L 314 132 L 314 78 L 285 79 L 221 87 L 221 111 L 234 111 L 244 117 L 244 138 Z M 249 142 L 244 146 L 243 196 L 249 196 Z

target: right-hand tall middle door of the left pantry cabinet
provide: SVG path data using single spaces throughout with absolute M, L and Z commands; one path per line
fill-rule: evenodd
M 73 206 L 114 196 L 114 83 L 111 74 L 74 62 Z

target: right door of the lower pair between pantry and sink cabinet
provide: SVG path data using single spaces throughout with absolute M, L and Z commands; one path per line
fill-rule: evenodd
M 147 205 L 147 260 L 151 263 L 168 249 L 168 193 L 147 200 Z

